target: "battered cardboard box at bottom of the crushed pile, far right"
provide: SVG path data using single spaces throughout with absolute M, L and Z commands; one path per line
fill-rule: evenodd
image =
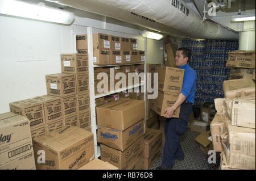
M 230 168 L 255 170 L 255 129 L 226 123 L 222 145 Z

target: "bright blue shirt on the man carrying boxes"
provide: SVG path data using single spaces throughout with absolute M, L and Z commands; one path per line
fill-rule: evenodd
M 187 102 L 195 102 L 196 93 L 196 71 L 193 70 L 188 64 L 179 66 L 180 69 L 184 69 L 184 79 L 181 93 L 187 98 Z

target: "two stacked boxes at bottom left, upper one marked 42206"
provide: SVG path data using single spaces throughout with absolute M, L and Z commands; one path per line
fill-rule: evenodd
M 0 170 L 34 170 L 30 121 L 13 112 L 0 114 Z

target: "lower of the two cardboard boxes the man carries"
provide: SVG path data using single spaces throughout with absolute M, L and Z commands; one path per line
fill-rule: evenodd
M 158 90 L 155 90 L 158 91 Z M 153 100 L 151 109 L 158 113 L 160 116 L 164 116 L 166 108 L 175 104 L 179 94 L 173 92 L 158 91 L 158 97 Z M 174 111 L 172 117 L 180 116 L 180 106 Z

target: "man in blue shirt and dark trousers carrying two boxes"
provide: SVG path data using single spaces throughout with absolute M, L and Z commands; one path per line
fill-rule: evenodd
M 164 111 L 164 117 L 167 118 L 166 142 L 164 144 L 163 163 L 156 168 L 158 170 L 171 170 L 175 164 L 175 159 L 183 160 L 185 156 L 180 145 L 180 136 L 187 128 L 188 117 L 192 112 L 196 92 L 196 72 L 188 65 L 190 57 L 191 50 L 187 48 L 177 49 L 175 64 L 180 69 L 184 69 L 183 87 L 175 104 Z M 172 117 L 179 106 L 181 106 L 179 118 Z

